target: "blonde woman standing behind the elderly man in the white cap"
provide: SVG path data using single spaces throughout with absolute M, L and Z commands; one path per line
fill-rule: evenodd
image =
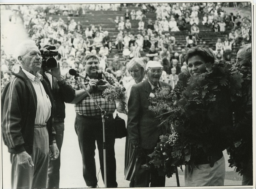
M 127 92 L 127 100 L 125 102 L 126 104 L 128 103 L 132 86 L 136 83 L 140 83 L 141 81 L 143 81 L 143 78 L 145 76 L 145 65 L 140 58 L 133 58 L 128 63 L 127 69 L 133 79 L 124 85 Z M 120 113 L 125 113 L 127 117 L 128 109 L 127 107 L 124 107 L 121 103 L 119 104 L 117 111 Z M 135 148 L 132 144 L 130 144 L 130 138 L 129 136 L 127 136 L 125 143 L 125 179 L 131 181 L 130 187 L 134 187 L 135 163 Z

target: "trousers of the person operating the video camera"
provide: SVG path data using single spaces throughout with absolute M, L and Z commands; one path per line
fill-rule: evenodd
M 53 122 L 53 127 L 56 131 L 55 140 L 60 151 L 60 155 L 57 160 L 49 159 L 47 188 L 59 188 L 60 184 L 61 147 L 64 135 L 64 123 Z

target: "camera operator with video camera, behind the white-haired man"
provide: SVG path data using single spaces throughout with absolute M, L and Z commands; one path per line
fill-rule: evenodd
M 58 51 L 55 46 L 39 46 L 41 52 L 42 67 L 40 73 L 43 75 L 54 102 L 53 128 L 56 132 L 55 140 L 60 151 L 59 158 L 49 161 L 47 188 L 59 188 L 60 167 L 61 167 L 61 147 L 64 136 L 65 103 L 70 103 L 75 98 L 74 89 L 65 81 L 61 75 L 60 63 L 57 63 L 54 56 Z

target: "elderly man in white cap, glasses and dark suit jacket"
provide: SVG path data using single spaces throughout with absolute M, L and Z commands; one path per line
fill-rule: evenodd
M 153 166 L 145 166 L 149 162 L 148 154 L 154 151 L 159 136 L 165 134 L 164 127 L 157 127 L 159 120 L 156 114 L 148 110 L 149 98 L 158 87 L 171 86 L 159 81 L 162 68 L 160 62 L 149 61 L 146 65 L 146 80 L 131 88 L 128 100 L 128 134 L 131 143 L 136 147 L 135 185 L 134 187 L 164 187 L 165 176 L 159 176 Z M 144 165 L 144 166 L 143 166 Z

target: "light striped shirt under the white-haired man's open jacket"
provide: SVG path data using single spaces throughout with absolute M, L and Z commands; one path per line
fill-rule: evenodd
M 49 96 L 45 92 L 44 86 L 40 81 L 43 79 L 43 76 L 37 73 L 37 77 L 36 77 L 24 69 L 22 69 L 22 71 L 26 74 L 26 76 L 31 81 L 37 94 L 37 114 L 35 119 L 35 125 L 46 123 L 46 121 L 51 116 L 52 104 Z

